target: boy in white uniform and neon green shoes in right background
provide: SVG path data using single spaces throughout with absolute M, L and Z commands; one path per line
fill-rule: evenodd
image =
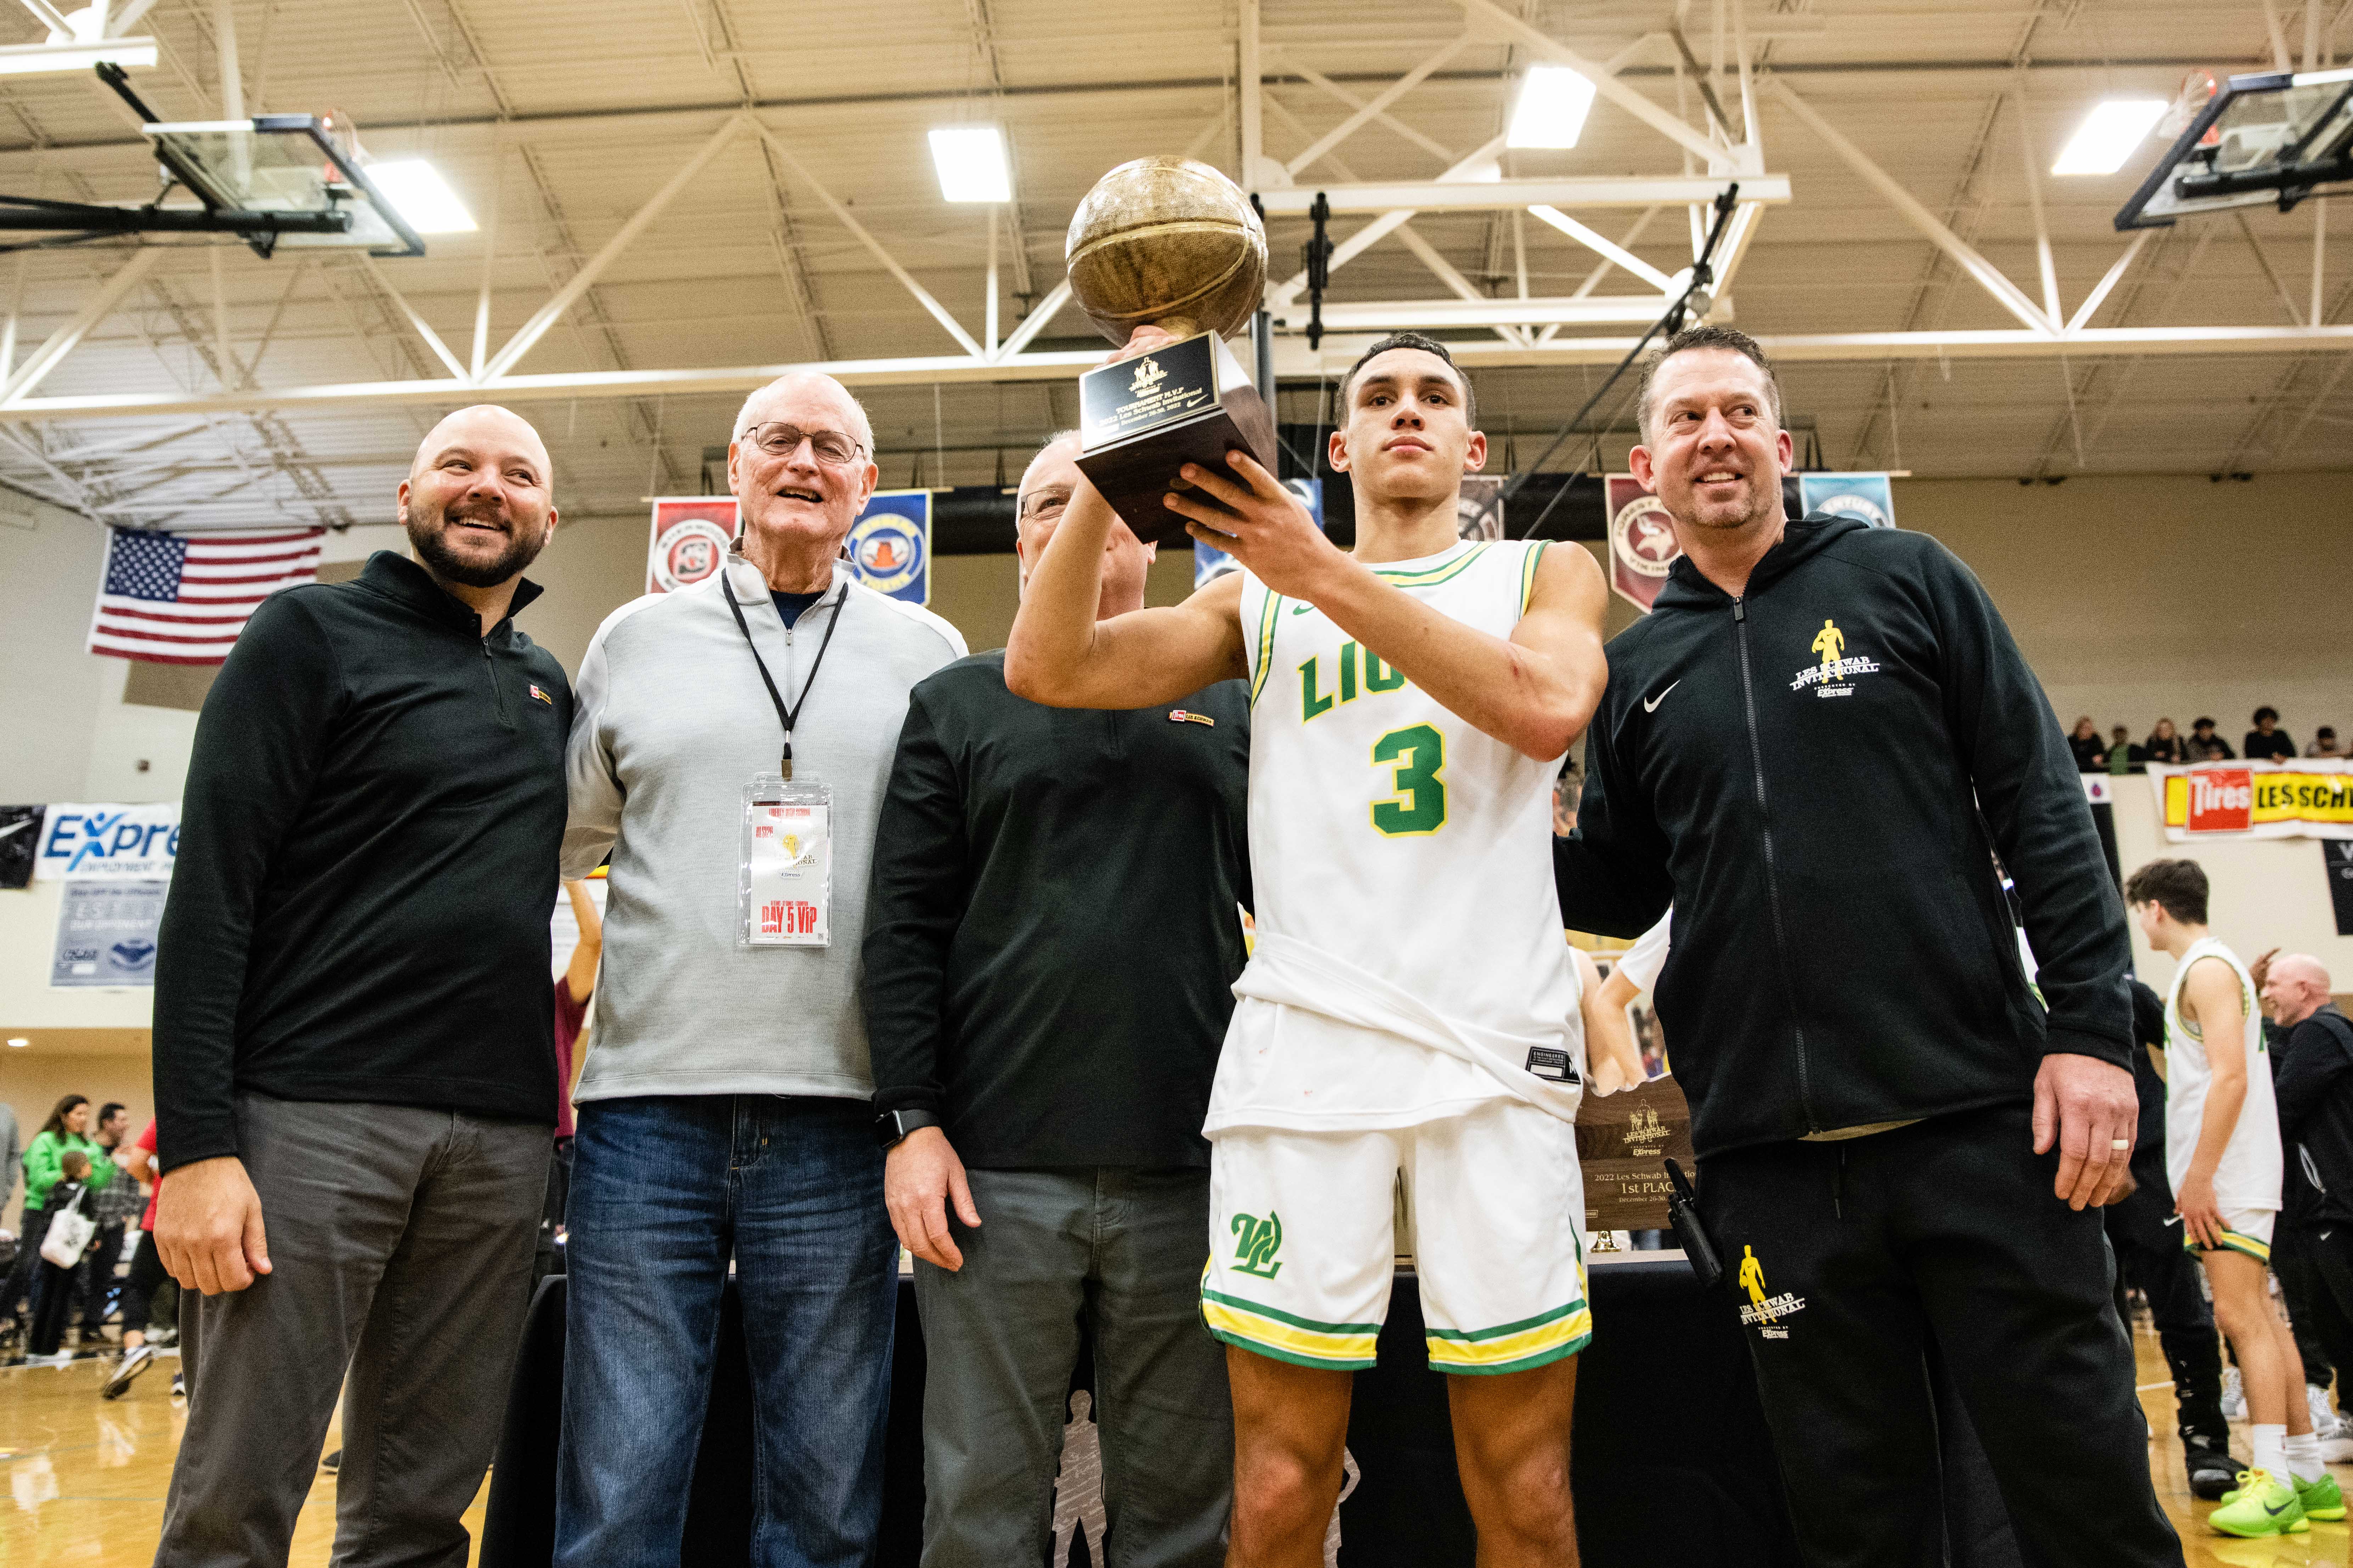
M 2254 1467 L 2207 1523 L 2224 1535 L 2292 1535 L 2344 1519 L 2320 1462 L 2297 1338 L 2271 1309 L 2271 1222 L 2280 1211 L 2280 1117 L 2247 966 L 2207 931 L 2207 875 L 2151 860 L 2125 882 L 2141 936 L 2174 959 L 2165 999 L 2165 1173 L 2181 1244 L 2200 1253 L 2214 1321 L 2247 1385 Z

